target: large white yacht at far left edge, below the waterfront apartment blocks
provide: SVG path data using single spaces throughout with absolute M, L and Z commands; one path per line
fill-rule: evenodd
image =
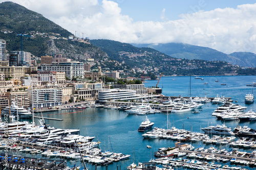
M 17 117 L 18 115 L 19 118 L 32 118 L 32 113 L 29 110 L 26 110 L 23 107 L 16 106 L 14 102 L 12 102 L 11 106 L 8 106 L 5 109 L 3 109 L 1 114 L 2 116 L 14 115 L 15 117 Z

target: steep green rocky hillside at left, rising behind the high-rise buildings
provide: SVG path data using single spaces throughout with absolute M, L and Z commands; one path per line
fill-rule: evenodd
M 63 57 L 85 61 L 87 58 L 108 58 L 100 48 L 89 40 L 78 42 L 69 31 L 56 25 L 41 14 L 12 2 L 0 4 L 0 39 L 7 41 L 8 51 L 20 51 L 20 36 L 23 37 L 23 51 L 40 57 L 62 54 Z

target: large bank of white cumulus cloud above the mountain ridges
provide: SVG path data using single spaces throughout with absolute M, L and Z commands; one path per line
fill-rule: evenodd
M 1 1 L 1 0 L 0 0 Z M 208 46 L 224 53 L 256 53 L 256 4 L 211 11 L 191 10 L 178 20 L 133 21 L 121 14 L 117 3 L 108 0 L 14 0 L 41 13 L 76 35 L 127 43 L 183 42 Z M 132 9 L 131 9 L 132 10 Z M 132 11 L 131 11 L 132 12 Z

